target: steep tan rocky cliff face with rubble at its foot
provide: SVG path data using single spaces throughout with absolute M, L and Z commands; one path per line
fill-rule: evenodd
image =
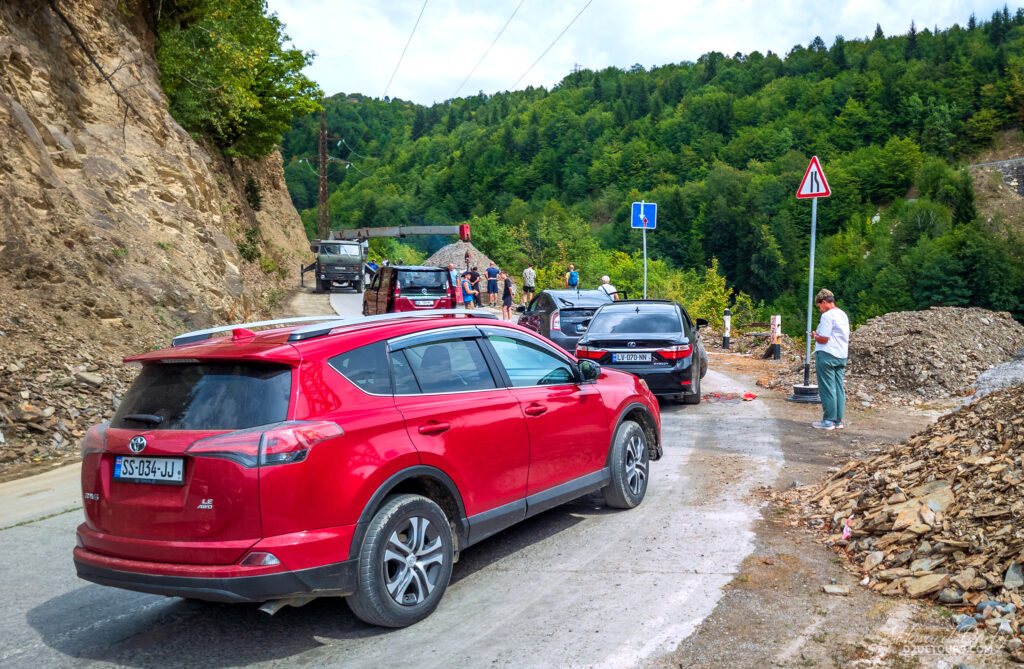
M 32 457 L 110 413 L 120 358 L 267 315 L 308 255 L 281 157 L 229 161 L 190 137 L 123 5 L 56 0 L 66 23 L 0 2 L 0 449 Z

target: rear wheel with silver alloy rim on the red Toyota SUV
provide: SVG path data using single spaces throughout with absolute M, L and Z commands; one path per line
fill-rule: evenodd
M 408 627 L 437 608 L 452 578 L 455 543 L 440 507 L 419 495 L 396 495 L 381 507 L 362 539 L 355 616 L 371 625 Z

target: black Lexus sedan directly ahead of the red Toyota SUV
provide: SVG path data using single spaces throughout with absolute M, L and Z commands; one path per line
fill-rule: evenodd
M 642 378 L 656 395 L 700 403 L 708 353 L 700 341 L 703 319 L 695 322 L 668 300 L 623 300 L 606 304 L 586 324 L 577 357 Z

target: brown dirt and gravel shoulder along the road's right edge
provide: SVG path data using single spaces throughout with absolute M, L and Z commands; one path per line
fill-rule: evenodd
M 779 363 L 716 353 L 714 369 L 753 386 Z M 785 393 L 759 389 L 781 433 L 784 462 L 773 488 L 822 478 L 848 454 L 872 444 L 905 440 L 939 412 L 905 407 L 851 407 L 845 430 L 809 427 L 817 406 L 796 405 Z M 729 472 L 713 454 L 691 463 L 694 477 Z M 763 491 L 767 493 L 767 491 Z M 767 500 L 767 494 L 764 496 Z M 858 586 L 847 560 L 817 543 L 791 519 L 790 509 L 765 502 L 755 525 L 754 550 L 725 588 L 714 613 L 672 653 L 645 667 L 1002 667 L 1000 644 L 980 633 L 951 633 L 948 612 L 908 599 L 883 597 Z M 824 584 L 848 596 L 821 592 Z

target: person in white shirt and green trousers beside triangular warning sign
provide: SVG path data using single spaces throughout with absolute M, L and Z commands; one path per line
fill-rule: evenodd
M 814 337 L 814 371 L 818 377 L 818 394 L 821 396 L 821 420 L 813 427 L 818 429 L 842 429 L 846 412 L 846 390 L 843 389 L 843 375 L 849 356 L 850 318 L 836 306 L 836 296 L 822 288 L 814 298 L 821 311 L 818 329 L 808 332 Z

